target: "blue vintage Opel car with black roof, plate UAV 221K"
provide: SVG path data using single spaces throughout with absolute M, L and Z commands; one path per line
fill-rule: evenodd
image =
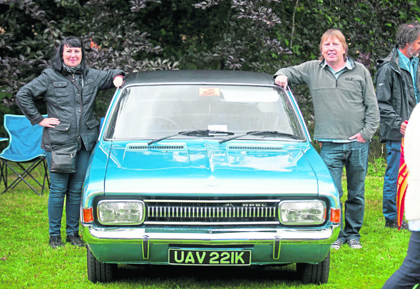
M 81 204 L 88 279 L 118 263 L 297 263 L 325 283 L 340 203 L 291 92 L 271 75 L 126 76 L 89 161 Z

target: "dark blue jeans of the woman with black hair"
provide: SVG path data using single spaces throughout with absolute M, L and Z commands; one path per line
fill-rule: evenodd
M 77 167 L 74 174 L 50 173 L 51 186 L 48 197 L 49 235 L 60 236 L 63 216 L 64 197 L 66 198 L 66 234 L 79 232 L 80 199 L 87 163 L 91 151 L 84 146 L 77 152 Z M 48 168 L 51 164 L 51 152 L 45 152 Z

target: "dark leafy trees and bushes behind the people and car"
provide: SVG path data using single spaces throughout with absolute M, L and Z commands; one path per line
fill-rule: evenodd
M 70 35 L 97 69 L 274 73 L 317 59 L 320 36 L 337 28 L 373 76 L 398 25 L 419 12 L 416 1 L 402 0 L 0 0 L 0 116 L 19 113 L 14 95 Z M 311 129 L 309 93 L 295 94 Z M 100 114 L 108 102 L 109 93 L 99 95 Z

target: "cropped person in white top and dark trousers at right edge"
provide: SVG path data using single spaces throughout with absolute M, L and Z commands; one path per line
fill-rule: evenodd
M 408 120 L 404 134 L 404 159 L 407 163 L 408 185 L 405 199 L 405 216 L 411 231 L 407 256 L 403 264 L 387 280 L 384 287 L 420 288 L 420 105 L 416 105 Z

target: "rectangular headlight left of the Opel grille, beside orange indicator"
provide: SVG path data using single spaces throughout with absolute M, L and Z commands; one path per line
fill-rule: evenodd
M 98 202 L 101 224 L 137 225 L 144 221 L 144 202 L 138 200 L 102 200 Z

